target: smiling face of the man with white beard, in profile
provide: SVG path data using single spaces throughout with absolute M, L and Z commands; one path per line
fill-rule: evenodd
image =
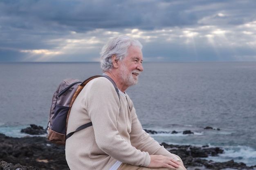
M 129 87 L 137 84 L 138 76 L 143 71 L 143 56 L 141 49 L 136 46 L 130 46 L 127 52 L 128 55 L 121 62 L 119 79 L 125 86 Z

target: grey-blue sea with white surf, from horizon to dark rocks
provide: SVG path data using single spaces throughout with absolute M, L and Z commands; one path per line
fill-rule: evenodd
M 256 62 L 144 62 L 126 93 L 159 143 L 220 147 L 207 160 L 256 165 Z M 101 75 L 99 62 L 0 63 L 0 133 L 47 127 L 61 80 Z M 213 129 L 204 129 L 206 127 Z M 185 130 L 193 134 L 184 135 Z M 176 131 L 177 133 L 172 133 Z

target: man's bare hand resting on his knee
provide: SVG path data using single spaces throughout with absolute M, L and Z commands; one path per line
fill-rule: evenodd
M 179 161 L 175 161 L 173 158 L 165 157 L 162 155 L 149 155 L 150 164 L 148 168 L 179 168 L 182 164 Z

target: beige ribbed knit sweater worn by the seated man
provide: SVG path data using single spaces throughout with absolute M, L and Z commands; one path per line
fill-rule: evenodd
M 106 77 L 95 78 L 83 88 L 72 106 L 67 134 L 90 121 L 92 126 L 67 139 L 65 154 L 70 170 L 109 170 L 117 160 L 147 167 L 149 155 L 178 160 L 142 129 L 133 103 L 126 97 L 120 94 L 119 101 Z

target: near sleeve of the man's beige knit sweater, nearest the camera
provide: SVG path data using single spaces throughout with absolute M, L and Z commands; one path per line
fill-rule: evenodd
M 92 80 L 87 100 L 97 146 L 123 163 L 147 167 L 150 163 L 148 152 L 135 148 L 119 135 L 117 117 L 120 102 L 112 83 L 104 77 Z

